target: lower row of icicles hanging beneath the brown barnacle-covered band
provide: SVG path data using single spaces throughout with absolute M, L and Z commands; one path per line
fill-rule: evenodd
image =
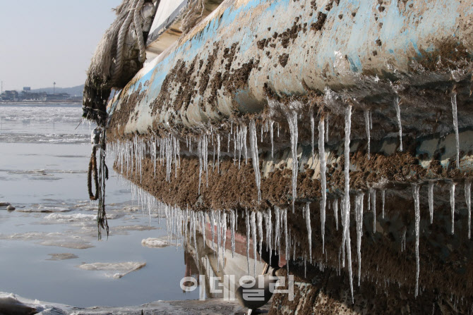
M 212 235 L 211 248 L 214 251 L 214 255 L 217 255 L 217 261 L 222 261 L 222 268 L 225 266 L 225 246 L 227 244 L 227 230 L 230 231 L 230 244 L 232 257 L 235 254 L 235 233 L 237 231 L 237 221 L 239 216 L 241 219 L 245 219 L 246 223 L 246 260 L 248 264 L 248 273 L 251 273 L 251 263 L 250 263 L 250 252 L 253 256 L 253 276 L 256 276 L 256 262 L 257 262 L 257 252 L 259 248 L 259 255 L 261 261 L 261 250 L 263 249 L 263 242 L 265 242 L 266 250 L 270 252 L 270 263 L 272 259 L 273 250 L 280 254 L 285 254 L 285 258 L 289 261 L 290 257 L 297 259 L 296 248 L 300 244 L 294 237 L 292 237 L 290 228 L 287 227 L 287 209 L 280 209 L 279 207 L 274 207 L 274 216 L 271 209 L 267 211 L 236 211 L 232 209 L 227 210 L 213 210 L 213 211 L 193 211 L 192 209 L 181 209 L 179 206 L 169 206 L 160 202 L 152 194 L 143 190 L 142 188 L 134 185 L 131 182 L 126 182 L 131 185 L 131 195 L 132 200 L 138 201 L 138 206 L 141 206 L 142 209 L 147 209 L 148 214 L 151 217 L 152 212 L 157 212 L 158 220 L 160 217 L 166 218 L 166 227 L 167 227 L 167 236 L 168 242 L 172 242 L 173 235 L 176 235 L 176 246 L 184 245 L 187 240 L 190 240 L 191 245 L 197 249 L 196 241 L 196 231 L 199 231 L 205 240 L 205 226 L 207 223 L 210 223 L 210 233 Z M 470 222 L 471 216 L 471 181 L 467 180 L 465 182 L 465 198 L 468 207 L 468 219 Z M 452 202 L 452 223 L 453 223 L 453 214 L 455 211 L 455 184 L 452 184 L 450 187 L 453 187 L 450 192 L 450 201 Z M 415 287 L 415 296 L 419 294 L 419 223 L 420 223 L 420 205 L 419 205 L 419 188 L 420 185 L 413 184 L 412 190 L 414 195 L 414 211 L 415 211 L 415 252 L 416 252 L 416 287 Z M 369 189 L 367 193 L 368 201 L 368 211 L 373 212 L 373 233 L 376 233 L 376 190 L 373 188 Z M 361 285 L 361 236 L 363 235 L 363 215 L 364 215 L 364 192 L 357 192 L 354 199 L 354 217 L 356 221 L 356 232 L 357 232 L 357 278 L 358 286 Z M 381 190 L 382 197 L 382 211 L 381 217 L 384 218 L 385 214 L 385 190 Z M 351 257 L 351 247 L 350 235 L 349 235 L 349 212 L 346 209 L 346 199 L 342 197 L 341 199 L 334 199 L 333 202 L 328 202 L 328 209 L 330 207 L 333 209 L 333 215 L 335 217 L 335 228 L 339 229 L 339 211 L 338 207 L 340 204 L 340 216 L 342 224 L 342 245 L 340 247 L 341 257 L 339 260 L 341 263 L 341 268 L 347 268 L 349 273 L 350 288 L 353 290 L 352 286 L 352 257 Z M 323 216 L 321 211 L 321 221 L 323 221 Z M 430 212 L 430 221 L 433 222 L 433 181 L 429 182 L 429 212 Z M 306 220 L 306 228 L 309 242 L 309 255 L 304 257 L 304 268 L 306 266 L 306 261 L 310 263 L 315 263 L 312 261 L 312 231 L 311 231 L 311 211 L 310 203 L 306 203 L 302 215 Z M 266 235 L 263 235 L 263 224 L 265 228 Z M 322 223 L 322 227 L 323 227 Z M 215 229 L 216 227 L 216 229 Z M 453 233 L 453 226 L 452 226 Z M 406 230 L 403 231 L 402 242 L 401 242 L 401 251 L 405 251 L 405 235 Z M 285 249 L 281 251 L 281 241 L 282 237 L 285 237 Z M 470 225 L 468 225 L 468 237 L 470 237 Z M 323 232 L 322 232 L 323 238 Z M 253 245 L 251 246 L 250 240 L 252 240 Z M 192 244 L 193 242 L 193 244 Z M 259 246 L 258 246 L 259 244 Z M 346 251 L 345 251 L 346 246 Z M 292 250 L 291 250 L 292 247 Z M 221 249 L 221 252 L 220 252 Z M 198 252 L 196 252 L 198 254 Z M 220 256 L 222 255 L 222 256 Z M 222 258 L 220 260 L 220 257 Z M 198 258 L 198 257 L 197 257 Z M 197 259 L 198 261 L 198 259 Z M 345 266 L 345 261 L 347 261 L 347 266 Z M 279 261 L 280 263 L 280 261 Z M 288 265 L 287 265 L 288 266 Z M 324 268 L 323 263 L 320 263 L 321 268 Z M 220 264 L 217 264 L 217 271 L 220 270 Z M 353 299 L 353 291 L 352 299 Z

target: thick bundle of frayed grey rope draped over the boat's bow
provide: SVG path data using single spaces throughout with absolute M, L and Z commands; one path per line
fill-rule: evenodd
M 112 89 L 121 89 L 146 59 L 145 41 L 156 7 L 151 0 L 124 0 L 116 20 L 100 40 L 90 61 L 83 93 L 83 118 L 104 125 Z

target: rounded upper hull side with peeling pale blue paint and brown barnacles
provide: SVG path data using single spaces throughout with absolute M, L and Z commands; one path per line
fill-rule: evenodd
M 265 85 L 391 104 L 391 82 L 426 87 L 468 68 L 471 18 L 470 1 L 225 1 L 136 75 L 112 115 L 127 108 L 127 133 L 192 128 L 263 111 Z M 124 106 L 133 93 L 139 99 Z

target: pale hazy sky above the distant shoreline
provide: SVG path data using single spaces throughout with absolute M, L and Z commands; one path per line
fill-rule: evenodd
M 85 82 L 95 47 L 121 0 L 0 0 L 0 80 L 5 89 Z

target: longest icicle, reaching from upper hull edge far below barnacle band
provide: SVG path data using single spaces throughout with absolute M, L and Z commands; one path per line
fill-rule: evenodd
M 347 245 L 347 264 L 348 264 L 348 276 L 350 284 L 350 292 L 352 293 L 353 302 L 353 272 L 352 272 L 352 246 L 350 244 L 350 230 L 349 230 L 349 212 L 350 212 L 350 177 L 349 177 L 349 164 L 350 164 L 350 131 L 352 129 L 352 106 L 347 106 L 345 113 L 345 206 L 343 211 L 345 216 L 344 234 L 345 244 Z

